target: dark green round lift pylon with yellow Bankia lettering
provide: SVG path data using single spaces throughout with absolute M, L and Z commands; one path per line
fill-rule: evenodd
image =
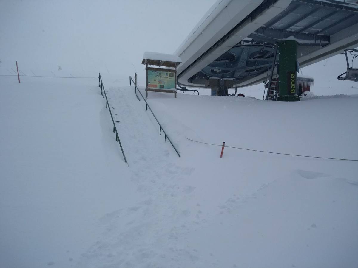
M 279 96 L 278 101 L 299 101 L 297 95 L 297 41 L 279 43 Z

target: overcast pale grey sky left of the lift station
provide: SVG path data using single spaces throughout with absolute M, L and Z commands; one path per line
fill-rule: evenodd
M 144 51 L 173 53 L 215 2 L 0 0 L 1 67 L 127 76 Z

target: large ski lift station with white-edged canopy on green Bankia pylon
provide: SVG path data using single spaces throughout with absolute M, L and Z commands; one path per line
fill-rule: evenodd
M 300 100 L 313 79 L 297 79 L 299 68 L 340 53 L 348 66 L 338 79 L 358 82 L 357 46 L 356 0 L 217 1 L 173 55 L 176 89 L 220 96 L 264 83 L 266 100 Z

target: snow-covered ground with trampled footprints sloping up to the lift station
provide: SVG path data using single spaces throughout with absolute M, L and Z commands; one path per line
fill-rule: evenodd
M 357 162 L 186 137 L 358 159 L 358 95 L 149 93 L 179 158 L 102 78 L 130 167 L 98 79 L 1 76 L 1 267 L 357 267 Z

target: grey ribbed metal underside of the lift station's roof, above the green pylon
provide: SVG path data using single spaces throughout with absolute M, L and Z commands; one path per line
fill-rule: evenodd
M 334 0 L 293 0 L 289 7 L 260 27 L 251 38 L 329 44 L 329 36 L 358 23 L 358 5 Z

